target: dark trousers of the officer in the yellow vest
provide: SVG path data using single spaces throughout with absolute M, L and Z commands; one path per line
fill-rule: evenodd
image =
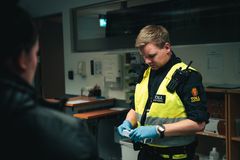
M 194 160 L 195 148 L 196 143 L 190 144 L 188 146 L 171 147 L 167 149 L 159 149 L 159 147 L 150 147 L 145 145 L 140 149 L 138 160 L 172 160 L 172 156 L 175 154 L 187 155 L 186 158 L 179 160 Z M 169 158 L 163 158 L 163 154 L 168 155 Z

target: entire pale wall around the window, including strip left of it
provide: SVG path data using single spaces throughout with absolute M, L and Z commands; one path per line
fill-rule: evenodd
M 27 0 L 25 0 L 27 1 Z M 100 53 L 73 53 L 71 49 L 71 26 L 70 10 L 92 3 L 103 2 L 104 0 L 56 0 L 56 1 L 36 1 L 24 3 L 35 17 L 63 13 L 63 39 L 64 39 L 64 64 L 65 64 L 65 87 L 68 94 L 80 94 L 82 87 L 89 88 L 98 84 L 103 89 L 104 77 L 101 75 L 90 75 L 90 60 L 103 61 L 103 55 L 108 52 Z M 222 43 L 222 44 L 198 44 L 174 46 L 176 55 L 181 57 L 186 63 L 193 60 L 193 67 L 198 69 L 203 75 L 204 84 L 239 84 L 240 85 L 240 43 Z M 123 54 L 127 50 L 119 50 L 116 53 Z M 74 80 L 67 78 L 67 72 L 74 70 L 76 73 L 79 61 L 86 61 L 87 76 L 82 78 L 75 74 Z M 124 90 L 110 90 L 109 93 L 103 91 L 105 96 L 124 99 Z

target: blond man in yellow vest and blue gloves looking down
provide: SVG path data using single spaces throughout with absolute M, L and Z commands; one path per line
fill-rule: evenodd
M 163 26 L 142 28 L 135 46 L 148 67 L 118 132 L 122 136 L 129 132 L 140 150 L 138 160 L 192 160 L 195 133 L 204 129 L 209 118 L 201 74 L 176 57 Z

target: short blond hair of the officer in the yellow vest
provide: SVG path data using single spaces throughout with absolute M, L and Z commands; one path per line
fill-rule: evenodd
M 150 42 L 159 48 L 163 48 L 166 42 L 170 43 L 167 29 L 161 25 L 148 25 L 143 27 L 136 38 L 135 47 L 142 48 Z

